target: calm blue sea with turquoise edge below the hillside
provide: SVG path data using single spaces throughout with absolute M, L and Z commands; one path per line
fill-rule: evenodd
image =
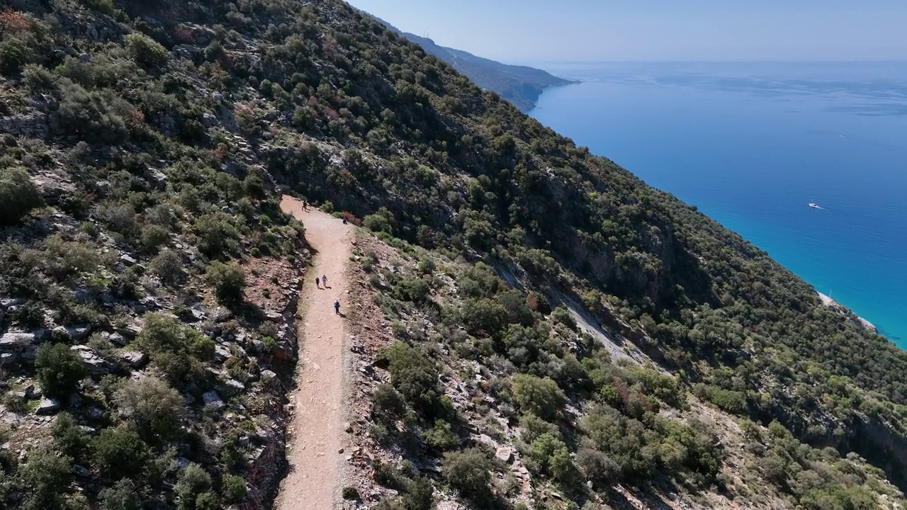
M 533 117 L 907 348 L 907 63 L 537 66 L 581 83 Z

